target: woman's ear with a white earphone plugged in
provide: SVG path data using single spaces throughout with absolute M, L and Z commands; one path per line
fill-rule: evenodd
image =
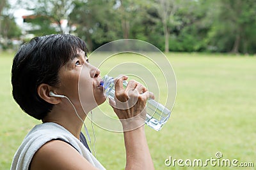
M 40 96 L 44 101 L 51 103 L 51 104 L 59 104 L 61 102 L 60 97 L 52 97 L 49 95 L 50 92 L 54 92 L 50 85 L 42 83 L 37 88 L 37 94 Z

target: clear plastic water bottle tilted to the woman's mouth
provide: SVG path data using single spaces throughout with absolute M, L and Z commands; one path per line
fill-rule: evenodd
M 123 81 L 124 87 L 127 87 L 127 81 Z M 115 81 L 111 76 L 104 76 L 100 85 L 103 86 L 106 97 L 115 99 Z M 171 111 L 168 110 L 163 104 L 157 103 L 154 99 L 147 101 L 147 117 L 145 124 L 159 131 L 170 117 Z

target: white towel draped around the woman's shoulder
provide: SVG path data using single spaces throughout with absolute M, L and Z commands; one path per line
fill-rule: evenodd
M 61 125 L 49 122 L 36 125 L 27 134 L 13 157 L 11 170 L 28 170 L 31 159 L 36 151 L 48 141 L 58 138 L 64 139 L 74 146 L 93 166 L 105 169 L 79 139 Z

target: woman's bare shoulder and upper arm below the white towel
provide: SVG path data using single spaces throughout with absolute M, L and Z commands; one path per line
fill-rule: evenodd
M 96 169 L 64 141 L 52 140 L 43 145 L 31 160 L 31 170 Z

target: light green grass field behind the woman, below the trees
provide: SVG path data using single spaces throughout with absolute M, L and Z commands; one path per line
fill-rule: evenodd
M 22 139 L 40 123 L 22 113 L 13 101 L 12 57 L 13 53 L 0 52 L 0 169 L 10 169 Z M 256 58 L 202 53 L 168 53 L 167 57 L 177 78 L 177 99 L 170 120 L 161 131 L 146 127 L 156 169 L 255 169 Z M 88 120 L 86 125 L 93 139 Z M 106 169 L 124 169 L 122 133 L 93 127 L 97 159 Z M 237 159 L 237 165 L 253 162 L 254 167 L 211 166 L 211 162 L 207 167 L 164 164 L 170 156 L 184 161 L 216 159 L 216 152 L 223 155 L 218 160 Z

